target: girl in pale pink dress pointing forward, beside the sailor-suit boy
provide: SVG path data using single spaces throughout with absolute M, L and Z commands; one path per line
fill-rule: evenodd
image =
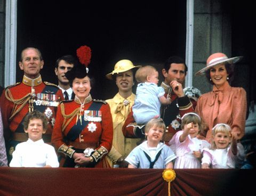
M 201 118 L 194 112 L 186 113 L 181 118 L 183 130 L 177 132 L 169 142 L 170 148 L 177 156 L 174 168 L 201 168 L 201 152 L 203 148 L 210 148 L 208 142 L 196 137 L 201 127 Z

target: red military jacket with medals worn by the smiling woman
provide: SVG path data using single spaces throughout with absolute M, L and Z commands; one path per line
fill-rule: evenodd
M 70 154 L 69 150 L 74 146 L 75 149 L 98 150 L 99 154 L 105 155 L 111 149 L 112 140 L 113 122 L 106 102 L 92 100 L 89 95 L 83 106 L 77 97 L 60 103 L 52 133 L 52 143 L 58 152 L 71 158 L 75 151 Z M 101 155 L 94 157 L 96 162 L 101 158 Z

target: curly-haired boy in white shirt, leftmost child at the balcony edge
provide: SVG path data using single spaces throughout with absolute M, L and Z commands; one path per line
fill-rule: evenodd
M 28 140 L 16 146 L 10 167 L 59 167 L 53 146 L 42 139 L 47 129 L 47 117 L 34 110 L 24 118 L 23 126 L 28 133 Z

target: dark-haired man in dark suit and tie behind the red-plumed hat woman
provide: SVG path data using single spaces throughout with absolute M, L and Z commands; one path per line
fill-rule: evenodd
M 58 86 L 61 89 L 65 100 L 73 100 L 75 94 L 69 85 L 65 74 L 76 66 L 76 59 L 71 55 L 61 56 L 55 63 L 55 74 L 58 77 Z

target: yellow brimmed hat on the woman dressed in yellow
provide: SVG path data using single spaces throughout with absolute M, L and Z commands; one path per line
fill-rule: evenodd
M 134 66 L 134 64 L 130 60 L 127 60 L 127 59 L 120 60 L 115 64 L 114 70 L 111 73 L 107 74 L 106 77 L 108 79 L 113 79 L 114 74 L 119 74 L 119 73 L 128 71 L 133 68 L 138 68 L 138 67 L 141 67 L 141 66 Z

